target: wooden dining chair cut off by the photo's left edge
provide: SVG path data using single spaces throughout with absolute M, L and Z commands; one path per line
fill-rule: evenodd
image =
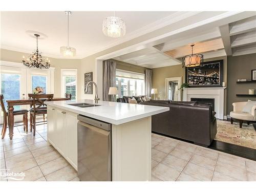
M 6 109 L 5 109 L 5 105 L 4 105 L 4 95 L 0 95 L 0 105 L 1 105 L 1 108 L 2 108 L 2 111 L 4 113 L 4 124 L 3 124 L 3 129 L 2 129 L 2 139 L 5 138 L 5 133 L 6 133 L 6 130 L 7 130 L 7 116 L 8 116 L 8 112 L 6 112 Z M 25 110 L 25 109 L 21 109 L 21 110 L 14 110 L 13 111 L 13 115 L 23 115 L 23 129 L 24 131 L 28 132 L 28 110 Z

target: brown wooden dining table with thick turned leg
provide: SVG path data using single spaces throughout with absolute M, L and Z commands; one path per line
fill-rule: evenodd
M 43 100 L 43 99 L 42 99 Z M 52 98 L 51 101 L 61 101 L 61 100 L 70 100 L 70 98 L 66 97 L 55 97 Z M 6 100 L 7 102 L 7 110 L 8 110 L 8 127 L 9 127 L 9 137 L 12 140 L 13 137 L 13 126 L 14 126 L 14 115 L 13 110 L 15 105 L 33 105 L 32 98 L 24 98 L 18 100 Z M 36 104 L 41 104 L 39 101 L 35 100 Z

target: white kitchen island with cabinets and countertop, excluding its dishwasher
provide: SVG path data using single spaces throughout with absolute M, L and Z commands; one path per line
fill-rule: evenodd
M 107 101 L 94 105 L 94 100 L 45 103 L 48 141 L 76 170 L 79 169 L 79 115 L 111 124 L 112 181 L 151 180 L 151 116 L 166 112 L 169 108 Z M 97 153 L 97 150 L 90 153 Z

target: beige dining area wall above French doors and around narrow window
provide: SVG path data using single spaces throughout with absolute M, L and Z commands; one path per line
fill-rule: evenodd
M 11 51 L 6 49 L 1 49 L 1 55 L 0 60 L 3 61 L 10 61 L 10 62 L 18 62 L 20 65 L 22 63 L 20 62 L 23 55 L 28 55 L 27 53 L 17 52 L 17 51 Z M 54 71 L 54 96 L 61 97 L 61 82 L 60 82 L 60 69 L 77 69 L 78 70 L 78 79 L 79 77 L 79 70 L 81 65 L 81 59 L 58 59 L 58 58 L 51 58 L 48 57 L 51 61 L 51 67 L 55 68 Z M 78 80 L 78 88 L 80 86 L 80 81 Z M 78 97 L 80 95 L 78 89 Z

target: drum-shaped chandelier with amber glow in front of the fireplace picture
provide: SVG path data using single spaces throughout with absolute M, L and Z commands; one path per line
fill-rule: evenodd
M 191 45 L 192 54 L 182 57 L 182 67 L 197 67 L 204 62 L 204 56 L 202 54 L 193 54 L 193 46 Z

